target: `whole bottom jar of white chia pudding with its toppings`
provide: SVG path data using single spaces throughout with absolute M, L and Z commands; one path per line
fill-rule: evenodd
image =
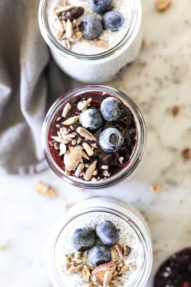
M 46 263 L 53 286 L 145 286 L 152 266 L 149 236 L 143 216 L 122 200 L 83 200 L 49 236 Z

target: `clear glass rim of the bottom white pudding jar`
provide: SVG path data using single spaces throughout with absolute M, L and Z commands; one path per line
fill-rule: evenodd
M 55 249 L 57 240 L 66 225 L 68 225 L 70 222 L 72 222 L 73 219 L 77 218 L 78 216 L 84 215 L 89 212 L 108 212 L 110 214 L 120 217 L 128 224 L 130 224 L 130 226 L 133 228 L 136 235 L 138 236 L 142 247 L 141 269 L 138 273 L 136 280 L 133 281 L 133 284 L 130 285 L 130 287 L 145 286 L 145 283 L 148 281 L 151 272 L 153 255 L 150 238 L 142 222 L 129 210 L 117 204 L 108 202 L 102 202 L 100 204 L 90 204 L 88 202 L 87 205 L 83 205 L 81 209 L 75 208 L 74 210 L 73 208 L 71 208 L 71 210 L 65 213 L 57 221 L 56 225 L 53 227 L 51 234 L 48 237 L 48 242 L 46 246 L 46 266 L 54 287 L 67 287 L 66 285 L 64 285 L 56 269 Z

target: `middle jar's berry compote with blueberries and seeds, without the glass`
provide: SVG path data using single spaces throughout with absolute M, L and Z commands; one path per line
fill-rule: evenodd
M 86 92 L 65 104 L 54 117 L 48 146 L 66 175 L 96 182 L 128 165 L 136 134 L 134 116 L 119 99 Z

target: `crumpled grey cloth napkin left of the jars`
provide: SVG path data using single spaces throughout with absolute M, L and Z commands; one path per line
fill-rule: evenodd
M 66 92 L 38 28 L 38 0 L 0 1 L 0 170 L 34 173 L 46 162 L 40 143 L 47 109 Z

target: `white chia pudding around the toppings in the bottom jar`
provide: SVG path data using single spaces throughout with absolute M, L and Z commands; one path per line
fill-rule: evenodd
M 122 246 L 122 248 L 127 245 L 128 248 L 130 248 L 130 253 L 128 256 L 124 256 L 123 258 L 120 256 L 117 256 L 117 260 L 112 264 L 116 265 L 116 270 L 118 270 L 118 274 L 122 274 L 120 276 L 114 274 L 114 270 L 112 267 L 113 272 L 113 278 L 111 279 L 111 283 L 115 285 L 120 284 L 121 286 L 129 286 L 132 284 L 132 282 L 135 281 L 135 278 L 138 276 L 138 273 L 141 268 L 141 243 L 136 235 L 135 231 L 133 228 L 123 219 L 118 217 L 117 215 L 113 215 L 110 213 L 105 213 L 105 212 L 91 212 L 87 214 L 83 214 L 78 216 L 77 218 L 73 219 L 72 222 L 70 222 L 66 227 L 61 231 L 57 243 L 56 243 L 56 248 L 55 248 L 55 264 L 56 264 L 56 269 L 58 272 L 59 277 L 61 278 L 61 281 L 66 285 L 70 287 L 77 287 L 77 286 L 87 286 L 89 287 L 89 284 L 91 283 L 91 279 L 86 280 L 84 275 L 83 275 L 83 268 L 81 268 L 79 271 L 76 271 L 71 274 L 67 274 L 65 272 L 65 254 L 73 256 L 74 252 L 76 252 L 72 245 L 71 245 L 71 237 L 76 230 L 76 228 L 92 228 L 93 230 L 96 229 L 96 225 L 102 222 L 102 220 L 109 220 L 112 222 L 118 229 L 119 231 L 119 245 Z M 96 243 L 96 244 L 100 244 Z M 118 249 L 112 249 L 113 246 L 111 247 L 110 250 L 115 250 L 114 253 L 118 253 Z M 116 245 L 115 245 L 116 248 Z M 122 251 L 123 252 L 123 251 Z M 77 252 L 75 253 L 77 254 Z M 74 260 L 75 256 L 73 256 Z M 71 262 L 73 261 L 73 258 L 71 258 Z M 92 272 L 93 268 L 96 268 L 96 266 L 93 266 L 91 262 L 88 260 L 88 250 L 83 252 L 83 257 L 79 257 L 81 262 L 76 261 L 78 264 L 76 264 L 76 267 L 86 264 L 88 268 L 90 269 L 90 272 Z M 113 258 L 112 258 L 113 259 Z M 112 261 L 112 259 L 110 261 Z M 116 259 L 116 258 L 115 258 Z M 110 264 L 110 263 L 107 263 Z M 118 265 L 117 265 L 118 264 Z M 102 265 L 99 265 L 102 266 Z M 120 266 L 120 267 L 117 267 Z M 128 266 L 128 268 L 125 268 Z M 74 268 L 74 267 L 73 267 Z M 123 268 L 123 269 L 122 269 Z M 115 269 L 115 268 L 114 268 Z M 70 269 L 69 269 L 70 270 Z M 95 269 L 94 269 L 95 270 Z M 120 273 L 120 270 L 124 270 L 124 273 Z M 117 282 L 116 282 L 117 280 Z M 88 284 L 88 281 L 90 282 Z M 120 283 L 119 283 L 120 282 Z M 103 286 L 103 284 L 97 283 L 97 286 Z

